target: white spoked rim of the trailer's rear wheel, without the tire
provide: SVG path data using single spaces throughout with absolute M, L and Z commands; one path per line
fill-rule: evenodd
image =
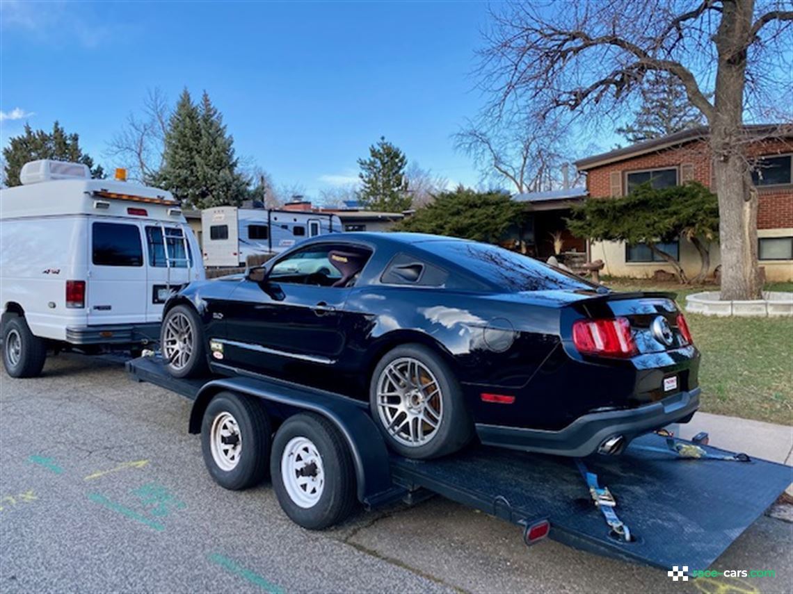
M 308 509 L 320 501 L 325 488 L 322 456 L 308 437 L 289 440 L 281 455 L 281 478 L 295 505 Z

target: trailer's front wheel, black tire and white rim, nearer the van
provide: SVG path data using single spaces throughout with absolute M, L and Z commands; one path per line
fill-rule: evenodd
M 255 398 L 216 394 L 201 422 L 201 453 L 214 481 L 232 491 L 262 482 L 267 477 L 272 433 L 270 418 Z

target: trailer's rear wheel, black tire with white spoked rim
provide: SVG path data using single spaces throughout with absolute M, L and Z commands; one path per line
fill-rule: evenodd
M 306 469 L 308 476 L 299 474 Z M 339 524 L 357 501 L 347 443 L 330 421 L 315 413 L 289 417 L 278 428 L 270 476 L 285 514 L 308 530 Z

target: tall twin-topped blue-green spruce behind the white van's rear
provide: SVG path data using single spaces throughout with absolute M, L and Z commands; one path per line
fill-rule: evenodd
M 233 143 L 209 95 L 195 105 L 185 89 L 170 117 L 157 185 L 191 208 L 239 206 L 249 181 L 237 171 Z

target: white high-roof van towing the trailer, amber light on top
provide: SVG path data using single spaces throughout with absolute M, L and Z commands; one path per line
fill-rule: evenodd
M 121 177 L 123 169 L 118 172 Z M 159 340 L 170 291 L 205 277 L 170 192 L 34 161 L 0 190 L 3 363 L 38 375 L 48 348 L 95 352 Z

